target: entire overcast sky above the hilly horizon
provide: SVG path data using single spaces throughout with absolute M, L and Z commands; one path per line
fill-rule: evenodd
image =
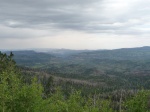
M 150 0 L 0 0 L 0 49 L 150 46 Z

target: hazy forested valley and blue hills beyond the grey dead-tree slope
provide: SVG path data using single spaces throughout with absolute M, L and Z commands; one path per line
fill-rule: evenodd
M 72 50 L 13 53 L 20 66 L 86 82 L 98 86 L 96 90 L 99 91 L 150 89 L 150 47 L 74 53 Z

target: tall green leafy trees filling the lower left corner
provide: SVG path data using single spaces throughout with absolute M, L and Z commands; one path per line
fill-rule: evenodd
M 30 85 L 23 83 L 12 59 L 13 55 L 0 56 L 0 111 L 38 112 L 42 103 L 42 86 L 35 79 Z

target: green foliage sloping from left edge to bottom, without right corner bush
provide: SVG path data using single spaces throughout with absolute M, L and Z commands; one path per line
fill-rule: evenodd
M 31 78 L 30 82 L 24 82 L 18 71 L 13 54 L 7 56 L 0 53 L 0 112 L 98 112 L 103 110 L 112 111 L 109 102 L 101 101 L 102 108 L 98 103 L 92 104 L 90 98 L 81 97 L 80 92 L 72 91 L 68 97 L 60 90 L 52 94 L 47 90 L 51 86 L 51 79 L 40 84 L 40 79 Z

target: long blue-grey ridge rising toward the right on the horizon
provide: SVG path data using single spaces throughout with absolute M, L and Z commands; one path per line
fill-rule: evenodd
M 80 53 L 72 58 L 82 59 L 113 59 L 113 60 L 149 60 L 150 47 L 123 48 L 115 50 L 97 50 Z

